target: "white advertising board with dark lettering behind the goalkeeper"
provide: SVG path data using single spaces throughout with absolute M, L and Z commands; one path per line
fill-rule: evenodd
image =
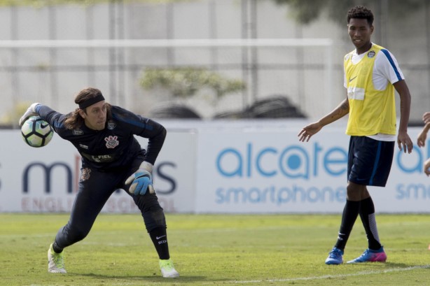
M 138 138 L 142 147 L 146 140 Z M 43 148 L 27 146 L 19 130 L 0 131 L 0 212 L 69 212 L 80 176 L 81 157 L 54 134 Z M 167 212 L 194 211 L 195 133 L 167 134 L 153 171 L 155 192 Z M 191 198 L 191 199 L 190 199 Z M 114 193 L 104 212 L 139 210 L 124 190 Z

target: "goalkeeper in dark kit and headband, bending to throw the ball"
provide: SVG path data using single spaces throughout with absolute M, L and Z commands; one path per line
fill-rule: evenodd
M 160 257 L 162 277 L 178 277 L 169 256 L 165 215 L 151 175 L 166 129 L 148 118 L 111 106 L 95 88 L 81 90 L 75 103 L 78 108 L 66 115 L 33 103 L 20 119 L 22 125 L 29 116 L 40 115 L 82 156 L 79 190 L 69 222 L 58 231 L 48 249 L 48 272 L 66 273 L 64 248 L 85 238 L 109 196 L 117 189 L 124 189 L 141 211 Z M 146 150 L 141 149 L 134 135 L 148 138 Z

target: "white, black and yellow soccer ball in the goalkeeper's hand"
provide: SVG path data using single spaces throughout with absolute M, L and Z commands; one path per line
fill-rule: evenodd
M 54 130 L 40 116 L 29 117 L 21 127 L 22 139 L 32 147 L 43 147 L 54 136 Z

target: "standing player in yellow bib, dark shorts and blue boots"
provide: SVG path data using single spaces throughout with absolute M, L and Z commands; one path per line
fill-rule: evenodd
M 341 264 L 345 245 L 358 215 L 368 238 L 363 255 L 349 261 L 385 262 L 387 255 L 380 243 L 375 207 L 367 186 L 384 187 L 391 169 L 396 141 L 396 105 L 394 89 L 400 96 L 400 124 L 397 144 L 403 152 L 412 152 L 408 136 L 410 93 L 403 73 L 387 49 L 370 41 L 373 13 L 356 6 L 347 13 L 349 38 L 355 50 L 344 59 L 344 86 L 347 98 L 319 121 L 303 127 L 300 141 L 309 141 L 322 127 L 349 113 L 346 134 L 351 136 L 347 166 L 347 201 L 333 250 L 326 264 Z

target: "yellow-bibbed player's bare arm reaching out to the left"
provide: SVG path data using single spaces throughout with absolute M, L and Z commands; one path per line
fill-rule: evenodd
M 307 142 L 310 140 L 310 138 L 317 134 L 319 130 L 321 130 L 322 127 L 326 126 L 327 124 L 330 124 L 331 122 L 335 122 L 336 120 L 344 117 L 349 113 L 349 103 L 348 99 L 344 99 L 338 107 L 336 107 L 331 113 L 328 113 L 328 115 L 322 117 L 317 122 L 311 123 L 307 125 L 306 127 L 303 127 L 303 129 L 298 134 L 298 140 L 302 142 Z

